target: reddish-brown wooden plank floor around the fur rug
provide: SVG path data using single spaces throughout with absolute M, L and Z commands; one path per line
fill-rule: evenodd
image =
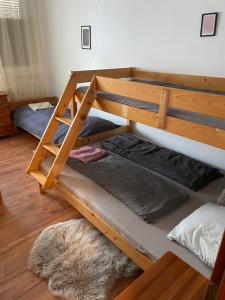
M 0 299 L 53 300 L 47 282 L 26 269 L 29 250 L 40 231 L 60 221 L 80 217 L 56 192 L 39 193 L 25 174 L 37 140 L 29 134 L 0 139 Z M 124 280 L 111 298 L 131 280 Z

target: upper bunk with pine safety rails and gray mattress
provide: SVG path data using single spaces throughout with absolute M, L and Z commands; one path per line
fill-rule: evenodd
M 225 149 L 224 78 L 120 68 L 75 71 L 71 81 L 77 87 L 94 75 L 94 108 Z M 85 92 L 76 89 L 78 102 Z

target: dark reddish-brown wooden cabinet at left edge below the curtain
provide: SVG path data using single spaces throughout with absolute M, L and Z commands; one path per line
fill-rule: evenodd
M 0 92 L 0 137 L 13 135 L 16 129 L 12 124 L 11 110 L 7 93 Z

